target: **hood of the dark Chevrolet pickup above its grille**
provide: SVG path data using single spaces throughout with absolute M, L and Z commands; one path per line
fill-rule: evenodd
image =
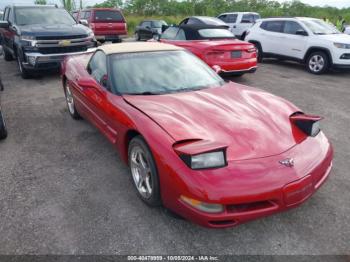
M 35 37 L 42 36 L 70 36 L 70 35 L 87 35 L 88 29 L 87 27 L 74 24 L 74 25 L 25 25 L 20 26 L 22 35 L 32 35 Z

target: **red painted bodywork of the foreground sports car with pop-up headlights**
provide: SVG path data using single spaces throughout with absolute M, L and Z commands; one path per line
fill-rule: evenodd
M 296 207 L 327 179 L 333 149 L 323 132 L 308 137 L 290 116 L 300 109 L 251 87 L 223 87 L 159 96 L 118 96 L 96 83 L 84 89 L 91 55 L 62 66 L 81 115 L 115 145 L 127 163 L 128 132 L 147 141 L 156 161 L 165 207 L 206 227 L 228 227 Z M 203 113 L 205 112 L 205 113 Z M 227 166 L 192 170 L 179 153 L 227 148 Z M 292 158 L 293 167 L 279 162 Z M 208 214 L 180 200 L 184 195 L 224 205 Z

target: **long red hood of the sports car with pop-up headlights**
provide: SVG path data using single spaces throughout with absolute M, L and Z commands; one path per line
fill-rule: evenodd
M 200 91 L 124 96 L 176 142 L 205 140 L 227 146 L 227 159 L 277 155 L 298 143 L 289 116 L 300 111 L 264 91 L 234 83 Z

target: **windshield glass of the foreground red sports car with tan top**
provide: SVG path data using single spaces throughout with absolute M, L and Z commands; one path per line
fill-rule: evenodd
M 111 81 L 120 94 L 160 95 L 221 86 L 224 81 L 187 51 L 115 54 Z

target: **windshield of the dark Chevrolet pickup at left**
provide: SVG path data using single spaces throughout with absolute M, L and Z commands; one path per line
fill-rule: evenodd
M 16 23 L 18 25 L 74 25 L 76 21 L 65 10 L 61 8 L 48 7 L 16 7 L 15 9 Z

